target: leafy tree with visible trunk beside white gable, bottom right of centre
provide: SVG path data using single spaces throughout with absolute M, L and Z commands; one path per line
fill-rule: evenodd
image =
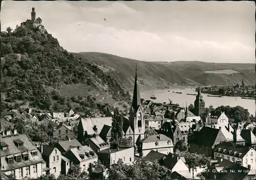
M 210 158 L 205 157 L 204 155 L 199 155 L 196 153 L 190 153 L 190 152 L 181 152 L 180 157 L 184 157 L 186 160 L 186 165 L 190 170 L 192 170 L 192 175 L 194 179 L 194 171 L 198 167 L 204 167 L 207 166 L 210 163 Z

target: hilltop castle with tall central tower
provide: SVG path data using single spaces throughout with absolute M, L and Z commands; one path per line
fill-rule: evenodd
M 21 25 L 25 25 L 30 29 L 38 29 L 40 32 L 44 33 L 46 30 L 41 23 L 42 19 L 40 17 L 36 18 L 35 8 L 32 8 L 31 19 L 27 19 L 26 22 L 22 22 Z

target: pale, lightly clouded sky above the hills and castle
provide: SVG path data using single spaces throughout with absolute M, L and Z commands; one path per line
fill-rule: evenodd
M 254 2 L 2 1 L 1 31 L 31 18 L 69 52 L 141 61 L 255 63 Z

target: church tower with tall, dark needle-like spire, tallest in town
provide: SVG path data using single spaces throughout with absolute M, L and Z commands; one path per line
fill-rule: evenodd
M 141 106 L 140 101 L 140 91 L 138 86 L 137 80 L 137 65 L 136 65 L 136 72 L 135 72 L 135 83 L 134 83 L 134 90 L 133 90 L 133 102 L 130 108 L 130 126 L 134 132 L 133 143 L 134 145 L 138 143 L 140 139 L 144 138 L 145 133 L 145 121 L 143 119 L 144 111 Z

